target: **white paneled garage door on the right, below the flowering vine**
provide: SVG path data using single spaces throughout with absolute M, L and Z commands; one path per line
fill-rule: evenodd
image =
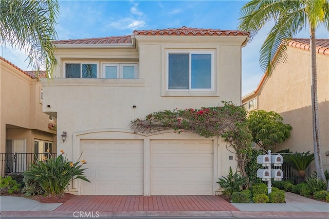
M 152 140 L 151 195 L 212 195 L 212 140 Z

